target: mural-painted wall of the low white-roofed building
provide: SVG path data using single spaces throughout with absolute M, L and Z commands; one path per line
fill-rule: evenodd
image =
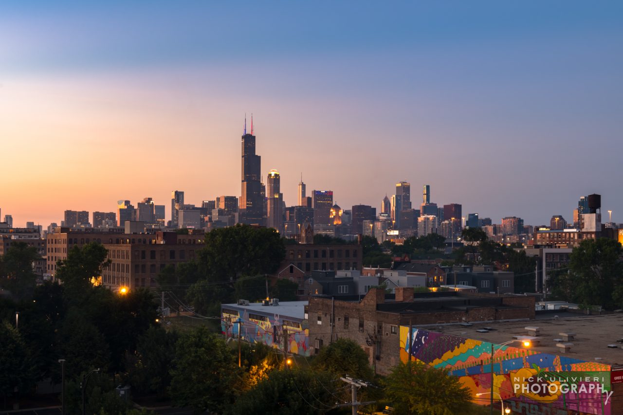
M 309 328 L 303 327 L 303 321 L 298 318 L 232 308 L 222 308 L 221 317 L 221 331 L 227 338 L 238 338 L 236 322 L 241 318 L 240 333 L 244 340 L 264 343 L 281 351 L 285 351 L 287 342 L 288 353 L 310 356 Z

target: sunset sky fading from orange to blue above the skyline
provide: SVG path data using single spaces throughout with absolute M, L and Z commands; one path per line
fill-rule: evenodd
M 288 206 L 623 222 L 622 45 L 620 1 L 0 2 L 2 219 L 239 196 L 253 113 Z

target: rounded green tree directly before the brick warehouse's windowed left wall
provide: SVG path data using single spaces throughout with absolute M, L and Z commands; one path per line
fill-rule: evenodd
M 339 338 L 321 348 L 313 364 L 317 370 L 327 371 L 338 377 L 348 374 L 358 379 L 374 378 L 368 355 L 350 338 Z

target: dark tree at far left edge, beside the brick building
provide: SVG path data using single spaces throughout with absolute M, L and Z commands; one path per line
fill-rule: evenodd
M 17 300 L 30 298 L 36 285 L 32 262 L 37 259 L 39 254 L 35 247 L 26 242 L 13 242 L 0 257 L 0 287 L 9 290 Z

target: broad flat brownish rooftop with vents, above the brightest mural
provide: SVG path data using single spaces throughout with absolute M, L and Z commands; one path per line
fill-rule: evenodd
M 558 318 L 554 318 L 554 315 L 558 315 Z M 540 344 L 532 346 L 531 350 L 605 363 L 606 365 L 623 366 L 623 343 L 619 342 L 623 339 L 623 313 L 577 315 L 561 312 L 549 314 L 548 317 L 518 322 L 472 323 L 471 327 L 451 324 L 426 325 L 422 328 L 432 332 L 488 341 L 499 345 L 513 340 L 513 336 L 528 336 L 525 327 L 538 327 L 540 328 L 538 335 Z M 482 330 L 485 327 L 495 330 L 488 333 L 477 332 L 477 330 Z M 562 353 L 562 350 L 556 346 L 556 343 L 559 342 L 554 340 L 561 338 L 559 335 L 561 332 L 576 333 L 575 338 L 569 341 L 569 343 L 573 343 L 573 346 L 567 353 Z M 609 348 L 608 345 L 617 345 L 617 348 Z M 522 347 L 519 343 L 513 343 L 509 346 Z

